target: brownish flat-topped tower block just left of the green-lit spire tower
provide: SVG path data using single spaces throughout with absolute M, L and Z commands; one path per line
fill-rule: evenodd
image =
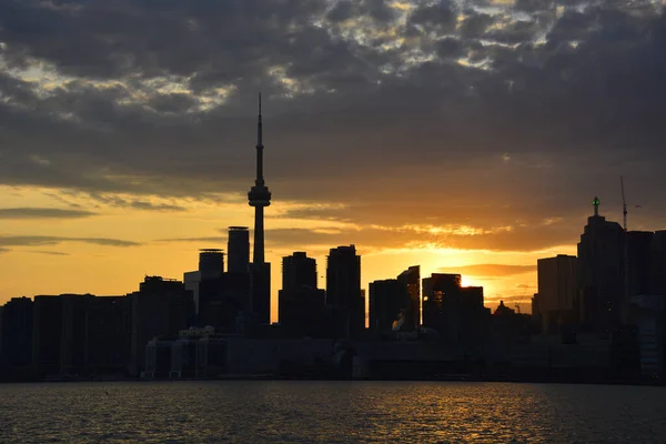
M 558 254 L 536 263 L 542 331 L 556 333 L 558 326 L 577 321 L 574 303 L 578 293 L 578 258 Z

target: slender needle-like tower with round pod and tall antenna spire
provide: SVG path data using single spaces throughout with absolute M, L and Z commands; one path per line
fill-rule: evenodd
M 248 193 L 250 206 L 254 206 L 254 253 L 252 256 L 252 312 L 262 324 L 271 323 L 271 264 L 264 256 L 264 208 L 271 204 L 271 192 L 263 179 L 263 142 L 261 122 L 261 93 L 259 94 L 259 120 L 256 124 L 256 179 Z

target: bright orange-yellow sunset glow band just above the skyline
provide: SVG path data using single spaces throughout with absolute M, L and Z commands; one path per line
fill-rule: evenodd
M 43 189 L 0 189 L 6 208 L 24 209 L 26 202 L 34 208 L 62 208 Z M 73 201 L 80 208 L 95 208 L 99 203 Z M 155 204 L 159 202 L 155 202 Z M 122 295 L 138 290 L 144 275 L 183 279 L 183 273 L 195 270 L 198 253 L 202 248 L 226 250 L 225 230 L 231 225 L 252 226 L 252 209 L 244 202 L 202 203 L 175 202 L 186 211 L 142 211 L 141 209 L 101 205 L 93 216 L 70 219 L 0 219 L 0 303 L 11 297 L 37 294 L 92 293 Z M 270 211 L 276 214 L 290 206 L 276 202 Z M 74 206 L 78 208 L 78 206 Z M 269 213 L 270 214 L 270 213 Z M 272 321 L 278 321 L 278 291 L 281 287 L 281 260 L 293 251 L 306 251 L 317 261 L 320 287 L 325 287 L 326 254 L 330 248 L 345 242 L 345 233 L 356 235 L 356 225 L 326 220 L 268 219 L 266 260 L 272 265 Z M 311 230 L 315 235 L 333 236 L 329 244 L 313 244 L 307 239 L 280 241 L 271 230 Z M 448 235 L 448 230 L 428 228 L 432 240 Z M 475 235 L 474 228 L 464 231 Z M 383 236 L 373 239 L 376 246 L 356 243 L 362 255 L 362 285 L 392 279 L 411 265 L 421 265 L 421 276 L 432 273 L 458 272 L 456 269 L 506 264 L 506 266 L 535 265 L 536 259 L 555 252 L 502 252 L 437 248 L 431 243 L 402 248 L 381 248 L 383 242 L 395 243 L 393 231 L 379 231 Z M 443 233 L 443 234 L 442 234 Z M 42 238 L 36 238 L 36 236 Z M 502 235 L 502 234 L 500 234 Z M 194 239 L 193 239 L 194 238 Z M 326 239 L 326 238 L 323 238 Z M 117 246 L 111 241 L 137 243 Z M 280 241 L 280 242 L 279 242 Z M 114 241 L 113 241 L 114 242 Z M 335 242 L 335 244 L 333 244 Z M 430 242 L 430 241 L 428 241 Z M 571 253 L 572 248 L 558 249 Z M 503 265 L 504 266 L 504 265 Z M 486 306 L 494 307 L 500 300 L 516 301 L 522 311 L 528 311 L 535 292 L 536 272 L 527 269 L 508 275 L 490 275 L 481 272 L 461 272 L 463 285 L 484 287 Z

